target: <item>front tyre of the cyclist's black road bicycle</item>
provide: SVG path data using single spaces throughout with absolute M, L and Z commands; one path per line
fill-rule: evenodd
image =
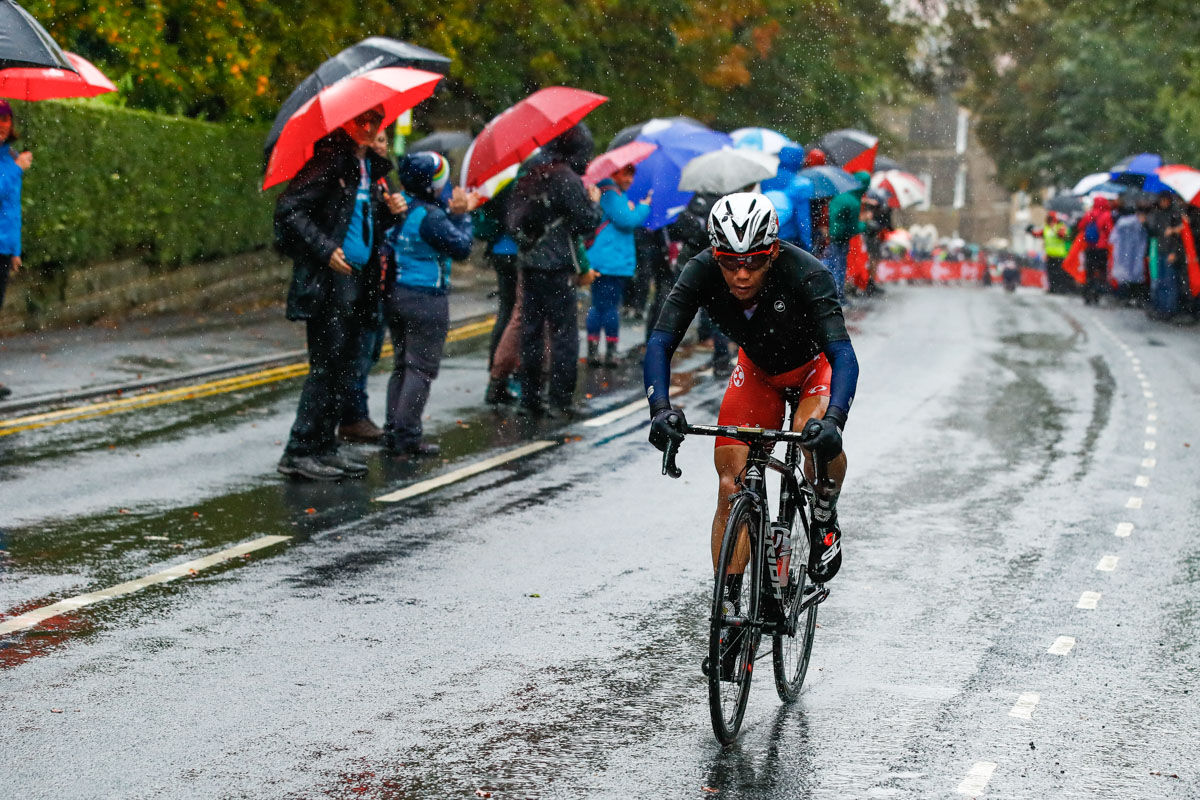
M 731 744 L 742 729 L 746 702 L 750 699 L 750 681 L 754 678 L 755 652 L 758 649 L 760 632 L 757 627 L 746 627 L 738 637 L 739 651 L 734 658 L 732 673 L 734 680 L 721 680 L 722 620 L 725 618 L 725 575 L 733 560 L 738 539 L 745 530 L 750 540 L 750 560 L 746 564 L 746 577 L 742 584 L 742 601 L 745 607 L 743 616 L 754 622 L 758 620 L 758 597 L 762 583 L 762 553 L 758 531 L 758 511 L 749 498 L 738 498 L 730 510 L 730 521 L 725 525 L 721 539 L 721 553 L 716 560 L 716 579 L 713 582 L 713 604 L 708 630 L 708 709 L 713 720 L 713 733 L 722 745 Z M 724 692 L 732 696 L 726 698 Z M 732 700 L 732 704 L 725 700 Z M 728 710 L 726 708 L 728 706 Z

